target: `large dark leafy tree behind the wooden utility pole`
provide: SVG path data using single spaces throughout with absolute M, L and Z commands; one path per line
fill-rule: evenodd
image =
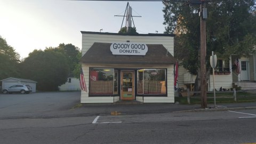
M 187 2 L 164 1 L 165 33 L 175 33 L 174 56 L 182 60 L 184 68 L 197 75 L 195 90 L 200 87 L 200 19 L 199 5 Z M 206 3 L 206 63 L 210 71 L 211 51 L 218 52 L 218 57 L 229 59 L 231 54 L 237 57 L 248 56 L 255 52 L 256 18 L 255 0 L 210 1 Z M 210 74 L 210 73 L 208 73 Z M 208 75 L 209 76 L 209 75 Z

